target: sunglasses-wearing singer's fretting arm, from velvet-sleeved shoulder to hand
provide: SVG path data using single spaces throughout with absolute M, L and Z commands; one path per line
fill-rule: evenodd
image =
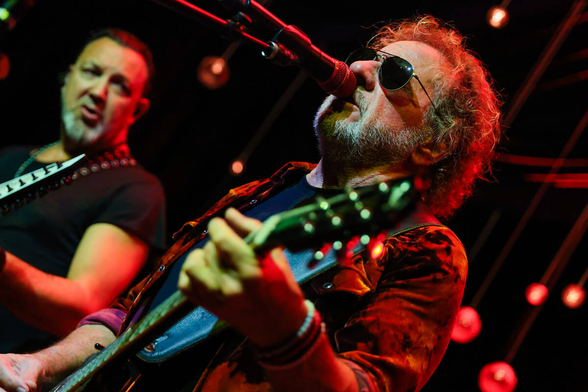
M 229 225 L 211 221 L 211 242 L 188 256 L 178 285 L 256 346 L 276 346 L 302 325 L 302 293 L 279 249 L 256 259 L 230 230 L 246 233 L 248 220 L 232 210 L 226 220 Z M 390 263 L 374 261 L 380 274 L 370 277 L 377 282 L 337 331 L 339 353 L 320 335 L 293 366 L 266 369 L 273 389 L 355 392 L 360 379 L 362 391 L 409 391 L 425 384 L 449 343 L 467 266 L 449 229 L 413 232 L 387 241 L 382 260 Z

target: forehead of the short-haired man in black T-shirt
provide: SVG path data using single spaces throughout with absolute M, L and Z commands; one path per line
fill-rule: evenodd
M 108 37 L 98 38 L 83 48 L 76 64 L 83 63 L 94 63 L 103 71 L 120 73 L 132 83 L 145 83 L 147 80 L 147 63 L 143 56 Z

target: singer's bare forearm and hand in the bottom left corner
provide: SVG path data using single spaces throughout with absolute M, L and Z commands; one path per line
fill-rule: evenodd
M 0 392 L 35 391 L 44 382 L 57 383 L 96 352 L 96 343 L 106 346 L 114 339 L 105 326 L 85 325 L 37 353 L 0 354 Z

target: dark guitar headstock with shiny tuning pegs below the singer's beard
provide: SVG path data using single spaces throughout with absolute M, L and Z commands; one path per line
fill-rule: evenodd
M 282 245 L 297 251 L 390 229 L 420 196 L 413 177 L 392 183 L 348 188 L 325 199 L 269 217 L 249 239 L 263 251 Z M 362 242 L 366 237 L 363 237 Z

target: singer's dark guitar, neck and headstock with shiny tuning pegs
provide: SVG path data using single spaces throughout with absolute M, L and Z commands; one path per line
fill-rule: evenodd
M 395 226 L 419 195 L 412 179 L 346 189 L 329 199 L 317 197 L 314 203 L 269 217 L 263 222 L 262 228 L 246 237 L 245 241 L 258 254 L 278 244 L 290 251 L 313 247 L 324 250 L 323 244 L 332 242 L 333 249 L 339 250 L 340 257 L 350 257 L 347 253 L 349 247 L 343 245 L 344 242 L 359 241 L 370 247 L 381 241 L 382 230 Z M 313 259 L 308 262 L 309 266 L 322 257 L 323 252 L 315 252 Z M 194 305 L 181 292 L 175 292 L 51 392 L 94 390 L 96 383 L 92 382 L 93 377 L 103 373 L 105 368 L 112 369 L 113 363 L 124 362 L 125 358 L 138 353 L 193 308 Z M 212 336 L 225 327 L 222 322 L 216 323 L 209 334 Z M 102 375 L 106 376 L 102 378 L 112 378 L 110 371 Z M 116 390 L 128 391 L 135 381 L 136 378 L 131 377 L 122 388 L 118 386 Z

